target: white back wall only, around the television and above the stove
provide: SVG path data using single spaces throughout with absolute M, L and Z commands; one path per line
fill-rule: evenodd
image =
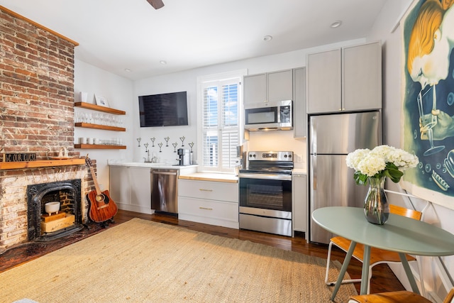
M 234 70 L 248 70 L 248 75 L 259 74 L 261 72 L 272 72 L 276 70 L 286 70 L 295 67 L 303 67 L 306 65 L 306 54 L 314 53 L 321 50 L 329 50 L 338 48 L 344 45 L 354 45 L 364 42 L 365 39 L 345 41 L 343 43 L 334 43 L 331 45 L 323 45 L 318 48 L 306 50 L 298 50 L 291 53 L 283 53 L 278 55 L 270 55 L 266 57 L 256 57 L 248 60 L 229 62 L 222 65 L 212 65 L 209 67 L 201 67 L 185 72 L 178 72 L 170 75 L 151 77 L 141 79 L 135 82 L 134 99 L 144 94 L 160 94 L 166 92 L 187 91 L 188 107 L 189 107 L 189 126 L 173 126 L 165 128 L 140 128 L 135 126 L 135 138 L 143 138 L 145 142 L 150 143 L 150 138 L 155 137 L 155 145 L 158 142 L 165 144 L 163 138 L 169 136 L 170 142 L 179 142 L 180 136 L 185 136 L 185 143 L 193 141 L 197 144 L 197 125 L 196 125 L 196 81 L 197 77 L 220 74 L 222 72 L 231 72 Z M 133 121 L 138 121 L 138 104 L 133 104 Z M 292 150 L 299 155 L 296 167 L 306 167 L 306 140 L 293 138 L 292 131 L 277 131 L 274 133 L 255 132 L 250 133 L 250 142 L 245 144 L 246 150 Z M 179 148 L 179 147 L 177 147 Z M 196 158 L 197 146 L 194 145 L 194 156 Z M 161 158 L 161 162 L 175 161 L 173 147 L 162 147 L 162 153 L 159 153 L 159 148 L 155 146 L 153 151 Z M 145 149 L 136 148 L 134 146 L 134 160 L 143 161 Z

